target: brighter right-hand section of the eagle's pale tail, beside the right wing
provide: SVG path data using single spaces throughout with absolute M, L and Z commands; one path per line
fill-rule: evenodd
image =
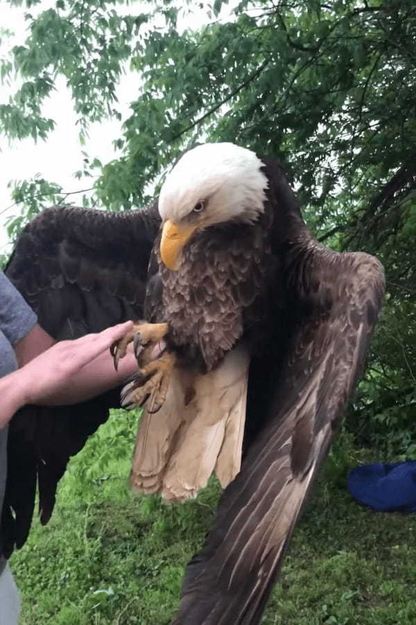
M 166 467 L 162 494 L 184 500 L 215 471 L 223 488 L 239 473 L 248 387 L 247 352 L 229 352 L 214 371 L 198 376 L 187 421 Z

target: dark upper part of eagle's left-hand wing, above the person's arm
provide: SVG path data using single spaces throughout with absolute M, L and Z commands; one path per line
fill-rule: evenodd
M 47 209 L 17 240 L 8 278 L 58 340 L 141 313 L 157 211 Z

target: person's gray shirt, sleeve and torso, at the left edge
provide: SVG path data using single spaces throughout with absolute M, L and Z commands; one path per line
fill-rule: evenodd
M 6 376 L 17 368 L 13 346 L 33 328 L 36 322 L 37 317 L 33 310 L 0 271 L 0 376 Z M 7 432 L 7 426 L 0 429 L 0 513 L 6 488 Z M 0 554 L 0 574 L 5 563 Z

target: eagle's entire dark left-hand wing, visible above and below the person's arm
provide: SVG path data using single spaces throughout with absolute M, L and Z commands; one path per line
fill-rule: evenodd
M 98 332 L 143 315 L 150 250 L 159 228 L 156 206 L 110 213 L 47 209 L 17 241 L 8 278 L 57 340 Z M 119 390 L 71 407 L 26 406 L 12 419 L 8 480 L 1 518 L 3 553 L 24 544 L 31 527 L 36 485 L 43 523 L 69 457 L 119 405 Z

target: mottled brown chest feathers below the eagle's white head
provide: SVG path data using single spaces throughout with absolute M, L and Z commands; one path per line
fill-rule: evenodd
M 168 320 L 171 344 L 188 365 L 212 371 L 242 337 L 259 334 L 272 295 L 269 220 L 262 215 L 255 225 L 203 231 L 184 248 L 175 272 L 162 263 L 157 240 L 153 267 L 162 288 L 159 301 L 153 289 L 147 294 L 153 311 L 148 320 Z

